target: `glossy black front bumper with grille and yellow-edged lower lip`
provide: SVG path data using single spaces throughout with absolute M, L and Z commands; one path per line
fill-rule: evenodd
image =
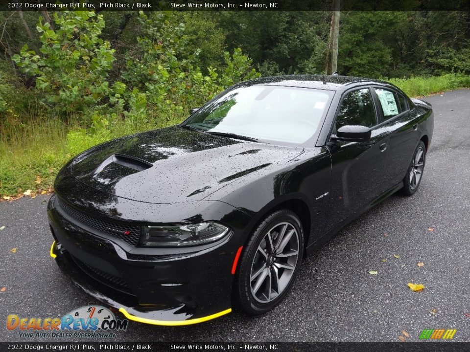
M 210 248 L 143 254 L 125 242 L 92 233 L 68 219 L 52 197 L 48 217 L 54 243 L 50 256 L 78 287 L 130 320 L 178 326 L 229 313 L 232 269 L 239 241 L 234 233 Z M 137 251 L 137 252 L 136 252 Z

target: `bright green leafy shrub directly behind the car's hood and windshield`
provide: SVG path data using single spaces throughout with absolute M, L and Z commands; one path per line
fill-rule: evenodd
M 141 12 L 140 19 L 143 36 L 137 38 L 137 50 L 126 58 L 122 77 L 127 86 L 145 93 L 149 110 L 156 111 L 160 121 L 181 119 L 224 88 L 259 76 L 240 49 L 232 56 L 224 53 L 223 71 L 209 66 L 204 74 L 197 60 L 200 49 L 188 51 L 184 23 L 171 23 L 165 13 Z

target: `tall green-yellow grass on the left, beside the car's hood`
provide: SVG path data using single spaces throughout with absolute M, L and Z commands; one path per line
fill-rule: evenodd
M 32 117 L 27 124 L 0 127 L 0 199 L 27 190 L 34 196 L 51 190 L 57 172 L 76 154 L 96 144 L 134 132 L 164 127 L 176 121 L 129 126 L 118 121 L 97 133 L 71 119 Z M 39 177 L 38 177 L 39 176 Z

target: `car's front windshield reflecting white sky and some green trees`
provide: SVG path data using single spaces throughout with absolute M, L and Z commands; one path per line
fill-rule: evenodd
M 311 88 L 234 88 L 195 112 L 183 125 L 214 134 L 302 144 L 318 132 L 332 95 L 332 91 Z

